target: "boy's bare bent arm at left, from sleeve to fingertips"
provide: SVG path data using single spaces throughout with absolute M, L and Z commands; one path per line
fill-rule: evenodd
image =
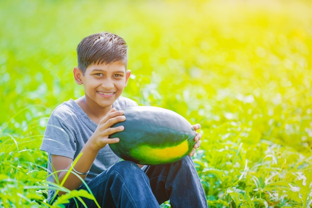
M 116 128 L 111 128 L 111 126 L 115 123 L 121 122 L 125 120 L 123 116 L 123 111 L 116 111 L 116 109 L 112 109 L 108 112 L 108 114 L 100 121 L 98 127 L 96 128 L 93 135 L 86 142 L 85 146 L 82 148 L 79 154 L 81 157 L 76 162 L 74 168 L 80 173 L 87 173 L 99 150 L 104 148 L 106 144 L 112 144 L 119 142 L 119 138 L 109 139 L 109 135 L 120 132 L 124 130 L 123 126 L 119 126 Z M 71 158 L 67 158 L 64 156 L 52 155 L 51 163 L 54 167 L 55 171 L 59 170 L 68 170 L 71 167 L 73 160 Z M 67 171 L 58 173 L 58 180 L 61 183 L 67 174 Z M 87 175 L 80 175 L 81 178 L 85 179 Z M 76 177 L 74 174 L 69 174 L 68 178 L 64 183 L 64 187 L 69 190 L 77 189 L 82 184 L 81 180 Z M 62 195 L 64 193 L 59 193 Z

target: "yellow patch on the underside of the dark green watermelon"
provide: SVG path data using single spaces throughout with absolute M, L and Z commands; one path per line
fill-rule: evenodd
M 131 150 L 130 155 L 136 159 L 142 159 L 151 164 L 171 162 L 188 154 L 188 142 L 185 140 L 173 147 L 151 147 L 141 145 Z

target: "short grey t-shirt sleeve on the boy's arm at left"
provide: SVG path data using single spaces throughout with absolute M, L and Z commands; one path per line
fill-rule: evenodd
M 77 149 L 76 141 L 70 127 L 65 125 L 66 119 L 54 114 L 49 117 L 40 150 L 74 159 Z

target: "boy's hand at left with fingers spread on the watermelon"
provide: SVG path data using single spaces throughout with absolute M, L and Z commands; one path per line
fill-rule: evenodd
M 94 131 L 93 135 L 88 140 L 88 143 L 94 150 L 99 151 L 104 148 L 106 144 L 113 144 L 119 142 L 119 138 L 109 138 L 109 135 L 124 130 L 124 126 L 118 126 L 112 128 L 111 126 L 125 121 L 124 111 L 116 111 L 115 108 L 110 110 L 106 116 L 100 121 L 98 127 Z

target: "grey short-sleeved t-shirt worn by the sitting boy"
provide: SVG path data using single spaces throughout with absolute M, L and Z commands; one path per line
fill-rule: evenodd
M 121 96 L 113 103 L 113 108 L 123 110 L 137 105 L 135 101 Z M 51 155 L 75 159 L 96 128 L 97 124 L 74 100 L 70 99 L 56 107 L 48 119 L 40 147 L 40 150 L 48 153 L 49 174 L 53 172 Z M 85 181 L 92 180 L 119 160 L 120 158 L 113 153 L 109 145 L 106 145 L 99 151 Z M 47 180 L 53 182 L 52 177 Z M 51 197 L 50 192 L 49 197 Z

